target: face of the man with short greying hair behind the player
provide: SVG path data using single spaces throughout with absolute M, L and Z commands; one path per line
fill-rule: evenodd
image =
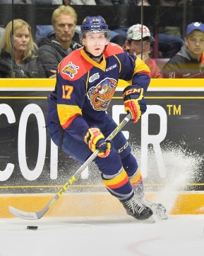
M 73 16 L 69 16 L 64 13 L 61 13 L 58 17 L 56 17 L 53 28 L 55 31 L 56 40 L 59 40 L 59 43 L 71 41 L 76 28 L 74 21 Z

